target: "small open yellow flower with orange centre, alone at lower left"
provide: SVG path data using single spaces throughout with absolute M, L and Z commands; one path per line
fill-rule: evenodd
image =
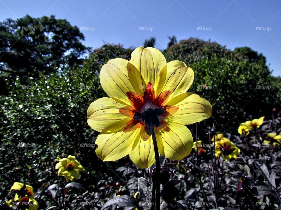
M 59 169 L 58 175 L 64 176 L 66 181 L 79 178 L 79 172 L 84 170 L 75 156 L 72 155 L 68 155 L 67 158 L 59 159 L 59 162 L 56 164 L 56 169 Z

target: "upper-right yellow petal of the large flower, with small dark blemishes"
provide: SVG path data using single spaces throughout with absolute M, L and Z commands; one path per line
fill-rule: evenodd
M 162 91 L 170 90 L 170 99 L 185 93 L 194 80 L 194 72 L 184 62 L 175 60 L 167 63 L 167 76 Z

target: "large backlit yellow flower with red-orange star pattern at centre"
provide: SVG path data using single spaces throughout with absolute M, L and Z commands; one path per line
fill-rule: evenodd
M 173 160 L 189 155 L 193 138 L 185 125 L 212 112 L 207 100 L 186 92 L 193 79 L 191 68 L 177 60 L 167 63 L 155 48 L 136 48 L 130 61 L 109 60 L 100 83 L 110 98 L 97 99 L 87 112 L 90 127 L 101 132 L 97 156 L 115 161 L 129 155 L 138 167 L 148 168 L 155 162 L 153 129 L 161 155 Z

